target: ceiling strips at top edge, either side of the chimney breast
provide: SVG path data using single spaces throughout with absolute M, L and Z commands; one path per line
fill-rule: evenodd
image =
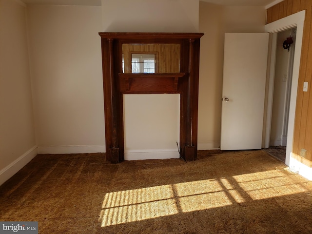
M 21 0 L 26 4 L 50 5 L 90 5 L 100 6 L 101 0 Z M 206 2 L 229 6 L 267 6 L 278 0 L 202 0 Z

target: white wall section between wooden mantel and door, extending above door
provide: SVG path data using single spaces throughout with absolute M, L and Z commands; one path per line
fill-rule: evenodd
M 264 32 L 264 7 L 199 3 L 198 150 L 220 146 L 224 33 Z

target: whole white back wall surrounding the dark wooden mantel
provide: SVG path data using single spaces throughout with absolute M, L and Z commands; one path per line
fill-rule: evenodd
M 102 0 L 102 6 L 28 5 L 39 153 L 104 151 L 100 31 L 204 32 L 198 149 L 219 147 L 224 33 L 263 32 L 264 19 L 262 7 L 224 7 L 197 0 Z M 175 103 L 174 99 L 168 102 Z M 146 111 L 153 105 L 159 105 L 157 98 L 151 100 Z M 177 116 L 176 104 L 169 109 L 172 116 Z M 178 130 L 170 131 L 177 131 L 174 136 L 178 134 Z M 161 136 L 151 137 L 151 142 L 157 137 Z

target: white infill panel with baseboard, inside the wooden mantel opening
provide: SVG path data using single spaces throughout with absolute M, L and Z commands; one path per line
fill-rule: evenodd
M 180 95 L 123 95 L 125 160 L 179 158 Z

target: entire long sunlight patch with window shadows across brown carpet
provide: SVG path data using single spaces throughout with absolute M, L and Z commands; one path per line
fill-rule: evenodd
M 276 170 L 107 193 L 101 227 L 308 191 Z

